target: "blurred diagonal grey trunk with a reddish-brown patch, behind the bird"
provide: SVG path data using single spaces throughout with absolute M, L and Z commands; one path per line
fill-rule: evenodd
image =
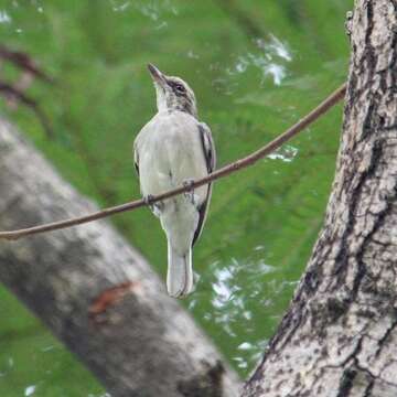
M 0 192 L 1 229 L 96 210 L 1 119 Z M 235 374 L 108 223 L 2 242 L 0 265 L 0 280 L 111 396 L 237 395 Z

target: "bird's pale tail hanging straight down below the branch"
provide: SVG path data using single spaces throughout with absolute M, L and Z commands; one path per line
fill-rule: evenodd
M 192 248 L 180 255 L 169 242 L 168 261 L 168 293 L 173 298 L 184 298 L 193 289 Z

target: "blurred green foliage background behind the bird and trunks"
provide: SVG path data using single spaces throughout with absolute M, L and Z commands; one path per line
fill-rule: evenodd
M 28 93 L 13 120 L 65 179 L 101 206 L 139 195 L 131 147 L 154 114 L 152 62 L 194 88 L 218 164 L 258 148 L 346 78 L 351 1 L 0 0 L 0 40 L 29 52 L 56 85 Z M 1 77 L 15 69 L 3 65 Z M 216 183 L 185 307 L 246 377 L 302 273 L 334 173 L 341 106 L 254 168 Z M 112 218 L 162 275 L 165 240 L 147 210 Z M 142 227 L 144 225 L 144 227 Z M 40 264 L 36 264 L 40 266 Z M 104 396 L 93 376 L 4 289 L 0 396 Z

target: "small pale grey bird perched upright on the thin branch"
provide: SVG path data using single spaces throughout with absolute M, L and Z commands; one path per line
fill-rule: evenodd
M 182 78 L 168 76 L 152 64 L 148 68 L 158 111 L 135 139 L 133 161 L 143 200 L 167 236 L 168 293 L 185 298 L 194 288 L 192 248 L 206 219 L 212 184 L 153 204 L 151 200 L 212 173 L 216 153 L 210 127 L 198 120 L 193 89 Z

